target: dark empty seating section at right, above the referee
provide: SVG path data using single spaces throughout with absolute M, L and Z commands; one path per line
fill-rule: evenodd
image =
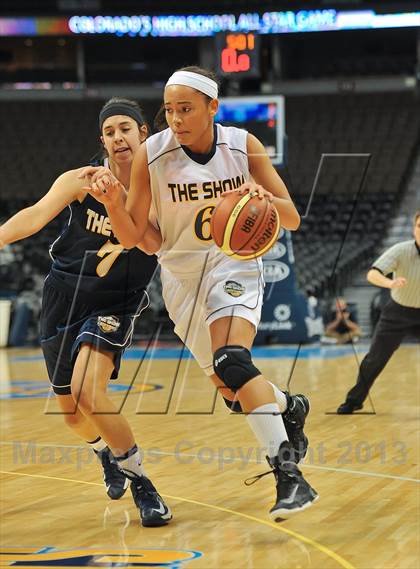
M 374 254 L 419 146 L 417 109 L 406 92 L 287 99 L 282 175 L 303 215 L 294 234 L 303 290 L 337 292 Z

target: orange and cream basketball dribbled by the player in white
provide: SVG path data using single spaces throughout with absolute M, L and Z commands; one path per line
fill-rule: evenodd
M 267 198 L 232 192 L 213 211 L 210 230 L 216 245 L 229 257 L 255 259 L 276 242 L 280 218 Z

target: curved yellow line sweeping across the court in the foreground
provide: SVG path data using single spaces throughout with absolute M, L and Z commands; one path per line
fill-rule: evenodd
M 28 474 L 26 472 L 9 472 L 9 471 L 5 471 L 5 470 L 0 470 L 0 474 L 10 474 L 12 476 L 29 476 L 31 478 L 43 478 L 43 479 L 47 479 L 47 480 L 60 480 L 62 482 L 76 482 L 78 484 L 89 484 L 91 486 L 101 486 L 101 487 L 103 486 L 99 482 L 87 482 L 85 480 L 76 480 L 76 479 L 72 479 L 72 478 L 61 478 L 58 476 L 46 476 L 44 474 Z M 208 504 L 207 502 L 199 502 L 198 500 L 192 500 L 189 498 L 181 498 L 180 496 L 171 496 L 170 494 L 162 494 L 162 496 L 164 496 L 165 498 L 169 498 L 171 500 L 178 500 L 180 502 L 187 502 L 189 504 L 196 504 L 198 506 L 203 506 L 205 508 L 211 508 L 213 510 L 218 510 L 220 512 L 225 512 L 227 514 L 233 514 L 234 516 L 239 516 L 239 517 L 251 520 L 253 522 L 257 522 L 259 524 L 268 526 L 272 529 L 275 529 L 276 531 L 283 532 L 283 533 L 301 541 L 302 543 L 306 543 L 307 545 L 310 545 L 314 549 L 318 549 L 318 551 L 320 551 L 321 553 L 324 553 L 325 555 L 327 555 L 327 557 L 330 557 L 331 559 L 336 561 L 339 565 L 341 565 L 341 567 L 344 567 L 344 569 L 356 569 L 354 567 L 354 565 L 352 565 L 346 559 L 344 559 L 343 557 L 338 555 L 338 553 L 335 553 L 334 551 L 332 551 L 331 549 L 329 549 L 325 545 L 322 545 L 322 543 L 319 543 L 319 542 L 317 542 L 317 541 L 315 541 L 309 537 L 306 537 L 300 533 L 297 533 L 293 530 L 283 528 L 283 527 L 279 526 L 278 524 L 275 524 L 274 522 L 262 520 L 260 518 L 256 518 L 255 516 L 250 516 L 249 514 L 243 514 L 242 512 L 238 512 L 236 510 L 230 510 L 229 508 L 223 508 L 221 506 L 215 506 L 213 504 Z

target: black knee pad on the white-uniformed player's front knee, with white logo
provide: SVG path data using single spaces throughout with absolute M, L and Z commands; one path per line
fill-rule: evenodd
M 233 392 L 261 373 L 252 363 L 251 352 L 243 346 L 223 346 L 216 350 L 213 367 L 217 377 Z

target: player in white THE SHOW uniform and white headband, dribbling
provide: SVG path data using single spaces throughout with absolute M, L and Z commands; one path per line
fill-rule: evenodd
M 163 296 L 175 331 L 268 448 L 277 486 L 270 516 L 279 521 L 318 498 L 297 467 L 306 452 L 309 403 L 281 392 L 254 365 L 250 349 L 261 314 L 262 262 L 224 255 L 211 240 L 209 221 L 226 191 L 268 197 L 285 229 L 297 229 L 300 218 L 261 142 L 245 130 L 214 124 L 217 97 L 211 73 L 197 67 L 176 71 L 164 93 L 169 128 L 140 147 L 127 201 L 117 188 L 108 191 L 107 177 L 93 170 L 89 191 L 106 206 L 113 231 L 128 248 L 146 231 L 153 204 L 162 234 Z M 303 443 L 303 452 L 296 443 Z

